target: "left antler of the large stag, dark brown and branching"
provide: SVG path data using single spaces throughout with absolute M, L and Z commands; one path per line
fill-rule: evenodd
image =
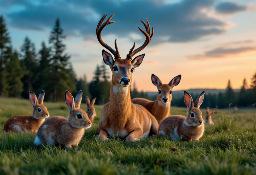
M 120 55 L 119 55 L 119 52 L 118 52 L 118 48 L 117 48 L 117 44 L 116 44 L 116 40 L 115 40 L 115 48 L 116 48 L 116 50 L 114 50 L 114 49 L 112 49 L 109 45 L 107 45 L 106 43 L 104 43 L 103 41 L 102 41 L 102 38 L 101 38 L 101 32 L 102 32 L 102 30 L 104 29 L 104 27 L 106 27 L 108 24 L 111 24 L 111 23 L 113 23 L 113 22 L 116 22 L 116 21 L 110 21 L 110 19 L 112 18 L 112 16 L 114 16 L 115 15 L 115 13 L 113 14 L 113 15 L 111 15 L 109 18 L 108 18 L 108 20 L 107 21 L 105 21 L 104 23 L 103 23 L 103 21 L 105 20 L 105 18 L 108 16 L 108 14 L 104 14 L 103 16 L 102 16 L 102 18 L 100 19 L 100 21 L 99 21 L 99 23 L 98 23 L 98 25 L 97 25 L 97 28 L 96 28 L 96 35 L 97 35 L 97 38 L 98 38 L 98 41 L 100 42 L 100 44 L 103 46 L 103 47 L 105 47 L 106 49 L 108 49 L 113 55 L 114 55 L 114 57 L 115 57 L 115 59 L 116 58 L 120 58 Z M 103 23 L 103 24 L 102 24 Z

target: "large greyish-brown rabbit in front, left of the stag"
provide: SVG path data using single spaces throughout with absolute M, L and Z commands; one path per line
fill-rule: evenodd
M 35 145 L 54 146 L 55 143 L 64 145 L 71 149 L 72 146 L 78 146 L 84 135 L 84 129 L 92 126 L 86 112 L 80 109 L 82 100 L 82 90 L 80 90 L 74 100 L 69 91 L 65 92 L 65 102 L 69 108 L 68 118 L 55 116 L 46 120 L 35 137 Z

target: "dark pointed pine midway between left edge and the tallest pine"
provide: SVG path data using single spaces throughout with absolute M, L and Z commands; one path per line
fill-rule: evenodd
M 21 95 L 24 98 L 29 98 L 28 92 L 34 90 L 38 66 L 35 45 L 28 37 L 25 38 L 24 44 L 21 46 L 21 52 L 23 53 L 21 64 L 26 71 L 24 77 L 22 78 L 23 92 Z

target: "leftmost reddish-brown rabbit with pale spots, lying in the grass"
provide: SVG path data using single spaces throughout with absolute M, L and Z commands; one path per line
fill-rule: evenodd
M 36 94 L 32 91 L 29 91 L 29 100 L 33 105 L 32 116 L 16 115 L 9 118 L 4 124 L 5 132 L 37 132 L 38 128 L 45 121 L 45 118 L 49 117 L 49 112 L 43 105 L 44 91 L 41 91 L 38 100 L 36 98 Z

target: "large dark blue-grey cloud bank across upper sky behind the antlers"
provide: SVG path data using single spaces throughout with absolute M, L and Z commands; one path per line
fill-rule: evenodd
M 82 36 L 96 40 L 95 29 L 104 13 L 116 15 L 114 24 L 107 26 L 103 35 L 115 34 L 118 37 L 142 36 L 138 30 L 144 26 L 140 19 L 149 20 L 154 27 L 153 44 L 162 42 L 190 42 L 209 35 L 225 32 L 227 22 L 208 16 L 202 9 L 214 7 L 215 0 L 182 0 L 172 4 L 154 0 L 87 0 L 87 1 L 12 1 L 3 3 L 6 8 L 15 5 L 24 8 L 7 13 L 11 26 L 25 30 L 46 30 L 52 28 L 57 17 L 61 20 L 65 34 Z M 143 7 L 143 8 L 142 8 Z M 130 37 L 130 39 L 132 39 Z M 114 42 L 114 41 L 113 41 Z

